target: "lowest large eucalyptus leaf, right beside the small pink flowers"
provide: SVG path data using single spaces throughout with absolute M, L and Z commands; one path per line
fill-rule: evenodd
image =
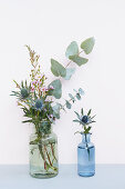
M 54 89 L 50 91 L 49 96 L 54 96 L 56 99 L 60 99 L 62 96 L 62 83 L 60 79 L 52 81 L 49 87 L 52 86 Z

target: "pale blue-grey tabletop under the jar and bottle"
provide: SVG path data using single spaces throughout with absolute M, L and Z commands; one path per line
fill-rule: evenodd
M 50 179 L 29 176 L 29 166 L 0 166 L 0 189 L 125 189 L 125 165 L 96 165 L 94 177 L 77 176 L 76 165 L 60 165 Z

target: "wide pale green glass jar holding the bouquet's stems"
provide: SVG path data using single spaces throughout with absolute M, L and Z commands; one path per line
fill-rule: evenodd
M 30 175 L 34 178 L 51 178 L 59 172 L 58 137 L 50 129 L 48 132 L 30 137 Z

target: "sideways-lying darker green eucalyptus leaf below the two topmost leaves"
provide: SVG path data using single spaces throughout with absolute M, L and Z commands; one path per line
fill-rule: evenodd
M 88 59 L 82 58 L 80 56 L 71 56 L 70 60 L 75 62 L 79 67 L 81 67 L 82 64 L 85 64 L 88 61 Z

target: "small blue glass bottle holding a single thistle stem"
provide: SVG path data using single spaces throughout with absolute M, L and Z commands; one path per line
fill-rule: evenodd
M 90 138 L 91 133 L 83 133 L 77 146 L 77 173 L 82 177 L 95 175 L 95 147 Z

